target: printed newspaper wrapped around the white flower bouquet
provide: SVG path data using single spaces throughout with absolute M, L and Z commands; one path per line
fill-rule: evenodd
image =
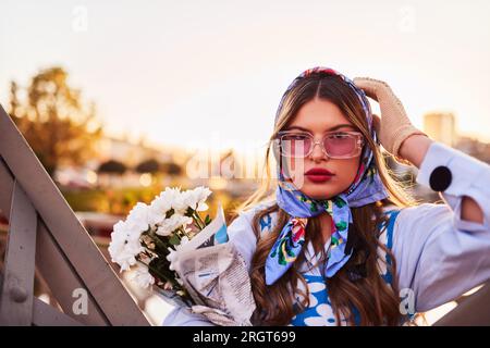
M 195 301 L 194 313 L 217 325 L 252 325 L 256 304 L 247 265 L 229 241 L 221 206 L 216 219 L 177 250 L 172 263 Z

